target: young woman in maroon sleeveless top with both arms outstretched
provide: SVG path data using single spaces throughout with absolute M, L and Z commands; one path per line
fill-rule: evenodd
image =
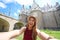
M 26 27 L 22 27 L 20 30 L 14 30 L 11 32 L 0 33 L 0 40 L 9 40 L 17 35 L 21 35 L 24 32 L 23 40 L 36 40 L 37 35 L 42 40 L 51 40 L 52 38 L 44 32 L 40 32 L 36 28 L 36 18 L 30 16 Z

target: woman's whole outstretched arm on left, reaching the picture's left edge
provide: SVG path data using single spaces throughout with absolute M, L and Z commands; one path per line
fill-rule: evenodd
M 0 40 L 9 40 L 11 38 L 14 38 L 20 34 L 22 34 L 25 31 L 26 27 L 22 27 L 20 30 L 13 30 L 9 32 L 1 32 L 0 33 Z

